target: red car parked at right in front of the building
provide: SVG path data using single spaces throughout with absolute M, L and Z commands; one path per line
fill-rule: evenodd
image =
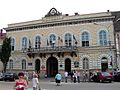
M 91 78 L 94 82 L 112 82 L 112 75 L 108 72 L 98 72 L 97 75 L 94 75 Z

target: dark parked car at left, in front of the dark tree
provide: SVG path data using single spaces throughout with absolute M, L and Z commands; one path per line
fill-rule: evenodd
M 18 79 L 18 75 L 16 73 L 4 74 L 4 81 L 14 81 L 15 79 Z

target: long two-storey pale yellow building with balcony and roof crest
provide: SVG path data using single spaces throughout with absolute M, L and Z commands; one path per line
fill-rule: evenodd
M 48 76 L 111 70 L 116 67 L 114 19 L 110 11 L 69 16 L 52 8 L 39 20 L 8 24 L 12 52 L 7 70 Z

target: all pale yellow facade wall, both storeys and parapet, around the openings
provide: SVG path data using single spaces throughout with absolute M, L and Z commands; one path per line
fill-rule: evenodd
M 38 23 L 49 23 L 54 21 L 62 21 L 62 20 L 70 20 L 72 19 L 81 19 L 84 20 L 85 18 L 92 18 L 92 17 L 101 17 L 101 16 L 106 16 L 106 18 L 109 18 L 111 14 L 106 12 L 106 13 L 95 13 L 95 14 L 86 14 L 86 15 L 78 15 L 78 16 L 58 16 L 58 17 L 47 17 L 47 18 L 42 18 L 40 20 L 34 20 L 34 21 L 28 21 L 28 22 L 20 22 L 20 23 L 15 23 L 15 24 L 9 24 L 8 28 L 12 28 L 15 26 L 22 26 L 22 25 L 28 25 L 29 24 L 38 24 Z M 107 17 L 108 16 L 108 17 Z M 9 31 L 7 32 L 7 35 L 9 37 L 13 37 L 16 40 L 16 45 L 15 45 L 15 50 L 21 50 L 21 39 L 22 37 L 27 37 L 28 39 L 31 40 L 32 46 L 34 45 L 34 38 L 36 35 L 40 35 L 41 37 L 41 47 L 46 47 L 47 46 L 47 39 L 50 34 L 55 34 L 56 35 L 56 40 L 58 40 L 58 36 L 62 38 L 63 44 L 60 44 L 64 46 L 64 35 L 66 33 L 70 33 L 71 35 L 74 35 L 78 41 L 78 46 L 81 46 L 81 40 L 80 36 L 83 31 L 87 31 L 90 35 L 90 46 L 98 46 L 98 32 L 100 30 L 106 30 L 108 32 L 108 40 L 110 36 L 110 41 L 112 41 L 112 44 L 114 44 L 114 34 L 113 34 L 113 23 L 112 21 L 104 21 L 104 22 L 96 22 L 95 23 L 80 23 L 80 24 L 73 24 L 73 25 L 63 25 L 63 26 L 54 26 L 54 27 L 44 27 L 44 28 L 37 28 L 37 29 L 28 29 L 28 30 L 20 30 L 20 31 Z M 110 33 L 110 34 L 109 34 Z M 58 42 L 56 42 L 58 45 Z M 65 58 L 70 58 L 71 59 L 71 67 L 72 69 L 74 68 L 74 61 L 79 61 L 79 69 L 82 70 L 82 59 L 84 57 L 88 57 L 90 63 L 90 69 L 100 69 L 101 67 L 101 57 L 105 56 L 109 59 L 108 63 L 110 63 L 110 56 L 109 56 L 109 50 L 108 49 L 101 49 L 103 51 L 97 51 L 99 50 L 94 48 L 95 50 L 85 50 L 81 48 L 79 49 L 79 53 L 77 57 L 71 57 L 70 55 L 66 55 L 63 58 L 60 57 L 58 58 L 57 55 L 55 54 L 54 56 L 57 58 L 58 63 L 60 64 L 60 60 L 62 60 L 62 64 L 64 66 L 64 61 Z M 33 66 L 28 67 L 27 70 L 34 70 L 35 68 L 35 60 L 36 57 L 34 58 L 29 58 L 26 53 L 19 53 L 19 52 L 12 52 L 11 59 L 15 60 L 14 62 L 14 69 L 21 69 L 21 60 L 24 57 L 24 59 L 27 62 L 32 62 Z M 49 54 L 46 56 L 46 58 L 40 58 L 41 65 L 46 65 L 46 61 L 49 58 Z M 114 57 L 114 54 L 113 54 Z M 94 66 L 94 63 L 97 62 L 98 67 Z M 111 66 L 109 66 L 111 68 Z M 59 68 L 59 67 L 58 67 Z M 8 68 L 9 69 L 9 68 Z M 64 67 L 62 68 L 64 70 Z

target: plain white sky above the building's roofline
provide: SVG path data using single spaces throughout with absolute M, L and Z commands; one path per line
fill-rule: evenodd
M 69 15 L 120 11 L 120 0 L 0 0 L 0 29 L 41 19 L 53 7 Z

